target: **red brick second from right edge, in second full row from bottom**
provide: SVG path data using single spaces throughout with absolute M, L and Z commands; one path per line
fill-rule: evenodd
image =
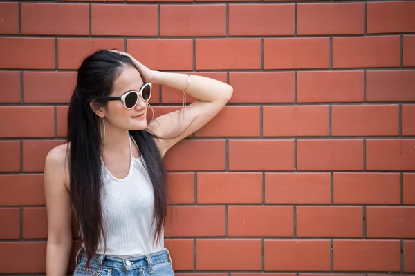
M 297 237 L 363 237 L 363 208 L 297 206 Z

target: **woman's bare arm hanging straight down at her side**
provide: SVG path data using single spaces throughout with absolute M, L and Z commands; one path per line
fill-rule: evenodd
M 67 275 L 72 249 L 72 204 L 65 181 L 64 152 L 58 146 L 48 153 L 44 170 L 48 213 L 46 276 Z

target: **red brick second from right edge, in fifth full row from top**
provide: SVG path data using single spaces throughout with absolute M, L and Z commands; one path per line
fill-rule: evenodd
M 362 140 L 297 140 L 297 170 L 362 169 Z

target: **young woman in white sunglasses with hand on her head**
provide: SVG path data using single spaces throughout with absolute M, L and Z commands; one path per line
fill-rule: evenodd
M 149 112 L 147 124 L 151 87 L 159 84 L 196 101 L 154 119 Z M 67 143 L 50 150 L 45 161 L 46 275 L 66 275 L 72 211 L 82 238 L 74 275 L 174 275 L 163 244 L 163 156 L 231 96 L 226 83 L 150 70 L 124 52 L 86 57 L 69 105 Z

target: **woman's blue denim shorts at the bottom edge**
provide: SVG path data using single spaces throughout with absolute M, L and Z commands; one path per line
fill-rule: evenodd
M 86 251 L 79 261 L 77 252 L 74 276 L 174 276 L 169 250 L 161 250 L 140 257 L 117 257 L 95 254 L 91 259 L 91 268 L 86 268 Z

